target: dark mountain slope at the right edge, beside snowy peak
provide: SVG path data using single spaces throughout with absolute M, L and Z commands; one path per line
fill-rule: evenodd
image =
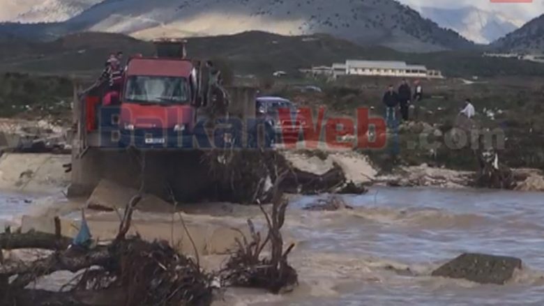
M 492 47 L 508 52 L 542 53 L 544 48 L 544 15 L 497 40 L 492 44 Z

